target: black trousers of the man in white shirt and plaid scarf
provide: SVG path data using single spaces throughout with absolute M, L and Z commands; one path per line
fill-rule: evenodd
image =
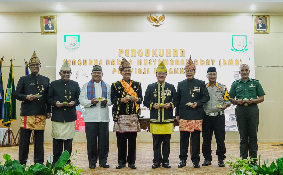
M 85 122 L 89 165 L 106 164 L 109 152 L 109 122 Z M 97 149 L 98 146 L 98 149 Z

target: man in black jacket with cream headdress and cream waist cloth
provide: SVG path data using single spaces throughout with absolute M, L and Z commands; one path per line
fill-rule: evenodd
M 72 69 L 66 60 L 60 69 L 61 79 L 52 81 L 48 91 L 47 100 L 52 107 L 52 133 L 53 138 L 53 162 L 51 167 L 58 161 L 59 157 L 67 150 L 72 154 L 73 138 L 75 136 L 75 122 L 77 120 L 76 106 L 80 104 L 79 83 L 70 80 Z M 65 103 L 65 104 L 64 104 Z M 70 163 L 68 161 L 67 163 Z

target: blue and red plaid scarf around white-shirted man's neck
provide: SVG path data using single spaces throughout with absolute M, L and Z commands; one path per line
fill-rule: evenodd
M 107 87 L 104 81 L 102 80 L 101 80 L 101 89 L 102 89 L 101 96 L 107 98 Z M 92 100 L 93 98 L 95 98 L 95 88 L 94 88 L 93 79 L 91 79 L 91 81 L 87 83 L 87 99 Z M 91 107 L 94 106 L 96 107 L 96 104 L 91 105 Z M 106 104 L 101 103 L 101 107 L 105 108 Z

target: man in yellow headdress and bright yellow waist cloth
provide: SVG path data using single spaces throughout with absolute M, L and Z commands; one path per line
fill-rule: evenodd
M 169 165 L 170 139 L 173 132 L 173 108 L 178 106 L 174 85 L 165 83 L 167 69 L 163 61 L 156 69 L 157 82 L 147 86 L 143 105 L 150 109 L 150 132 L 153 139 L 153 165 L 151 168 L 171 168 Z M 163 105 L 163 106 L 162 106 Z M 161 155 L 161 143 L 162 154 Z

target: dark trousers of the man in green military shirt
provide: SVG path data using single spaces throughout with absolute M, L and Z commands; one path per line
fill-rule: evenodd
M 240 134 L 240 155 L 246 159 L 258 156 L 258 123 L 260 112 L 258 105 L 239 106 L 235 109 L 236 121 Z M 257 160 L 257 159 L 256 159 Z

